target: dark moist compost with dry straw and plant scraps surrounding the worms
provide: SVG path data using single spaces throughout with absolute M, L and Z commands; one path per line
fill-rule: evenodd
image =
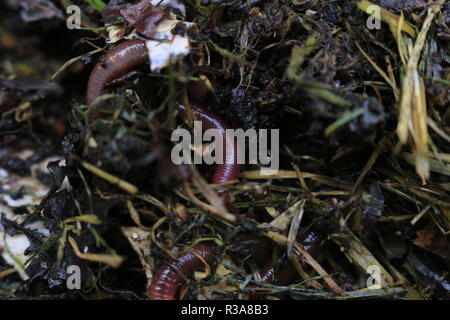
M 136 37 L 168 44 L 87 105 Z M 443 0 L 1 1 L 0 297 L 145 299 L 202 243 L 179 299 L 449 299 L 449 39 Z M 225 211 L 214 165 L 170 161 L 194 98 L 279 129 Z

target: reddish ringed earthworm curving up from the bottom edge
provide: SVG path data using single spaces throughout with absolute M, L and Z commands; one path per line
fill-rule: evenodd
M 205 244 L 198 244 L 192 250 L 182 254 L 176 261 L 166 264 L 154 274 L 148 289 L 148 300 L 174 300 L 178 285 L 192 272 L 202 269 L 205 264 L 194 252 L 206 262 L 214 256 L 213 249 Z

